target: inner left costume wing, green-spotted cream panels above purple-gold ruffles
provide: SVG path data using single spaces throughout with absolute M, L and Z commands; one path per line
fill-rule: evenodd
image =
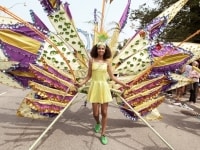
M 74 87 L 76 79 L 84 76 L 87 70 L 88 55 L 73 24 L 68 5 L 57 5 L 55 11 L 49 12 L 49 19 L 58 33 L 49 34 L 49 39 L 57 49 L 45 42 L 37 60 L 39 67 L 30 65 L 31 72 L 42 84 L 29 82 L 36 98 L 28 96 L 24 99 L 18 109 L 21 116 L 40 118 L 40 113 L 43 118 L 44 115 L 49 117 L 60 113 L 77 93 Z M 30 115 L 31 111 L 24 111 L 27 106 L 36 113 Z

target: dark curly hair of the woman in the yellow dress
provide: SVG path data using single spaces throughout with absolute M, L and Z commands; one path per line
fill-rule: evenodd
M 97 49 L 98 49 L 98 45 L 94 45 L 90 51 L 90 56 L 92 58 L 97 58 L 98 57 L 98 52 L 97 52 Z M 112 56 L 112 53 L 111 53 L 111 50 L 110 48 L 108 47 L 108 45 L 106 45 L 106 48 L 105 48 L 105 53 L 103 55 L 103 59 L 106 60 L 106 59 L 109 59 L 111 58 Z

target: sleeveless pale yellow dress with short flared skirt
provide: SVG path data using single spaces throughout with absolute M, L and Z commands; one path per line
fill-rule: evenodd
M 111 102 L 112 95 L 107 82 L 107 63 L 93 61 L 91 78 L 88 101 L 100 104 Z

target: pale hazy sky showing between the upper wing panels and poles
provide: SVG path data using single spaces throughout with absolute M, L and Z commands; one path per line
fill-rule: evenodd
M 94 9 L 96 8 L 101 12 L 102 9 L 102 0 L 63 0 L 63 3 L 68 2 L 70 4 L 71 14 L 75 23 L 75 26 L 81 30 L 92 33 L 92 24 L 89 24 L 88 21 L 92 20 Z M 128 0 L 113 0 L 113 2 L 106 6 L 105 11 L 105 28 L 110 29 L 109 27 L 112 22 L 118 22 L 123 13 L 124 8 L 126 7 Z M 138 9 L 141 4 L 146 3 L 147 6 L 153 7 L 153 0 L 132 0 L 131 9 Z M 15 15 L 24 19 L 25 21 L 30 21 L 30 10 L 33 10 L 42 21 L 49 27 L 50 30 L 54 31 L 50 21 L 46 17 L 42 6 L 39 3 L 39 0 L 1 0 L 0 5 L 8 8 Z M 0 12 L 0 16 L 5 16 L 5 13 Z M 135 33 L 134 28 L 137 25 L 131 23 L 127 20 L 127 24 L 123 29 L 120 39 L 132 37 Z

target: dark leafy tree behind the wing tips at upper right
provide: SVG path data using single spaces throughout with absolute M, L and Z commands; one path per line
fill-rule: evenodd
M 166 8 L 177 2 L 177 0 L 153 0 L 155 7 L 147 7 L 146 4 L 137 10 L 131 10 L 130 20 L 138 21 L 139 28 L 144 28 L 151 20 Z M 200 2 L 199 0 L 189 0 L 180 10 L 175 18 L 168 24 L 164 34 L 159 38 L 169 42 L 180 42 L 200 29 Z M 200 43 L 200 35 L 190 39 L 190 42 Z

